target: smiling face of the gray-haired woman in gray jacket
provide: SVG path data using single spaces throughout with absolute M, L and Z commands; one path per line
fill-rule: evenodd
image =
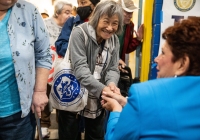
M 113 15 L 112 17 L 108 17 L 107 15 L 101 16 L 96 29 L 97 42 L 109 39 L 117 31 L 118 25 L 119 18 L 117 15 Z

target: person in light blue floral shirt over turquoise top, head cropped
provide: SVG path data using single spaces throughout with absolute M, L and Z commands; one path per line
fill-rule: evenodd
M 0 46 L 0 139 L 33 140 L 33 113 L 41 117 L 48 102 L 51 68 L 48 32 L 35 6 L 0 0 Z

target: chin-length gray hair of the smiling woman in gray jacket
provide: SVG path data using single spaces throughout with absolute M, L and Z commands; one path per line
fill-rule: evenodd
M 113 0 L 104 0 L 99 2 L 90 17 L 89 24 L 96 29 L 99 19 L 102 16 L 107 15 L 108 17 L 112 17 L 115 14 L 119 18 L 119 25 L 116 34 L 120 34 L 123 31 L 123 10 L 121 6 Z

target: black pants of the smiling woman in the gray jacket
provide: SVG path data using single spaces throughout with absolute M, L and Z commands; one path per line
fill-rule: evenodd
M 59 140 L 77 140 L 81 117 L 75 113 L 59 110 L 58 135 Z M 105 114 L 95 119 L 85 118 L 85 140 L 104 140 Z

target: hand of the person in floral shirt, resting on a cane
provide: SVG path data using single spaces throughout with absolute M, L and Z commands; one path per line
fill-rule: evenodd
M 44 107 L 48 103 L 48 97 L 46 91 L 39 91 L 33 93 L 31 109 L 33 113 L 37 113 L 38 117 L 41 118 L 41 111 L 44 110 Z

